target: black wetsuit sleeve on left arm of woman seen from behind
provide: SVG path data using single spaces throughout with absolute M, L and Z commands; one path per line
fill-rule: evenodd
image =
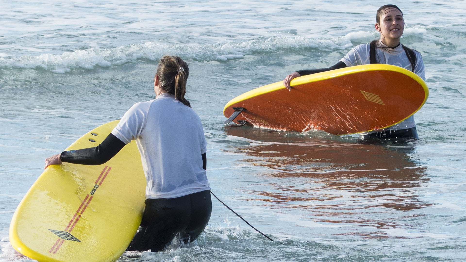
M 123 141 L 110 133 L 100 145 L 79 150 L 63 151 L 62 162 L 81 165 L 102 165 L 109 161 L 125 146 Z

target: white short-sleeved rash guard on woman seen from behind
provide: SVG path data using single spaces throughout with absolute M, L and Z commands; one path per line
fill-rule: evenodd
M 112 134 L 136 140 L 147 179 L 146 198 L 176 198 L 209 190 L 202 154 L 206 138 L 199 116 L 174 96 L 136 103 Z

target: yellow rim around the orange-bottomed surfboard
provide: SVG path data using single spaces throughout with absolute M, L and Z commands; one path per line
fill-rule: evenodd
M 335 69 L 335 70 L 325 71 L 325 72 L 321 72 L 321 73 L 296 77 L 290 83 L 291 86 L 292 86 L 291 92 L 293 92 L 293 87 L 294 86 L 299 86 L 299 85 L 303 85 L 303 84 L 307 84 L 307 83 L 313 83 L 313 82 L 319 82 L 319 81 L 323 81 L 323 80 L 328 80 L 328 79 L 332 79 L 332 78 L 338 78 L 338 77 L 341 77 L 341 76 L 348 76 L 348 75 L 361 73 L 361 72 L 368 72 L 368 71 L 393 71 L 393 72 L 401 73 L 403 75 L 411 77 L 413 80 L 415 80 L 417 83 L 419 83 L 419 85 L 422 86 L 422 88 L 424 89 L 425 98 L 424 98 L 424 101 L 421 103 L 421 105 L 418 107 L 418 109 L 415 110 L 411 115 L 409 115 L 407 117 L 404 117 L 404 119 L 402 119 L 402 120 L 400 120 L 400 121 L 398 121 L 397 123 L 394 123 L 394 124 L 401 123 L 404 120 L 406 120 L 407 118 L 411 117 L 414 113 L 416 113 L 425 104 L 425 102 L 427 100 L 427 97 L 429 96 L 429 90 L 427 88 L 427 85 L 426 85 L 426 83 L 424 82 L 424 80 L 421 77 L 419 77 L 415 73 L 411 72 L 410 70 L 404 69 L 402 67 L 394 66 L 394 65 L 388 65 L 388 64 L 358 65 L 358 66 L 351 66 L 351 67 L 346 67 L 346 68 L 342 68 L 342 69 Z M 225 111 L 228 108 L 230 108 L 232 105 L 236 104 L 236 103 L 240 103 L 240 102 L 245 101 L 247 99 L 257 97 L 257 96 L 260 96 L 260 95 L 264 95 L 264 94 L 274 92 L 274 91 L 277 91 L 277 90 L 282 90 L 282 89 L 285 89 L 285 86 L 283 85 L 283 81 L 276 82 L 276 83 L 271 83 L 271 84 L 268 84 L 268 85 L 265 85 L 265 86 L 262 86 L 262 87 L 247 91 L 247 92 L 241 94 L 240 96 L 233 98 L 228 103 L 226 103 L 226 105 L 225 105 L 225 107 L 223 109 L 223 112 L 225 114 Z M 226 117 L 228 117 L 228 116 L 226 116 Z M 391 125 L 393 125 L 393 124 L 391 124 Z M 389 125 L 389 126 L 391 126 L 391 125 Z M 379 128 L 387 128 L 389 126 L 383 126 L 383 127 L 379 127 Z M 365 131 L 373 131 L 373 130 L 374 129 L 365 130 Z M 363 132 L 363 131 L 359 131 L 359 132 Z M 355 132 L 355 133 L 359 133 L 359 132 Z M 349 134 L 352 134 L 352 133 L 349 133 Z

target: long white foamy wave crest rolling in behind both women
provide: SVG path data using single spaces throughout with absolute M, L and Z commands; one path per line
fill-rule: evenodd
M 242 59 L 245 55 L 268 54 L 277 51 L 294 52 L 304 48 L 320 50 L 342 50 L 352 47 L 348 37 L 333 39 L 312 39 L 303 36 L 273 36 L 267 39 L 240 42 L 199 44 L 164 44 L 146 42 L 131 44 L 113 49 L 91 48 L 65 52 L 62 55 L 42 54 L 24 55 L 21 57 L 0 57 L 0 68 L 45 69 L 57 74 L 69 72 L 71 69 L 94 69 L 110 67 L 134 62 L 138 59 L 158 61 L 163 55 L 178 55 L 194 61 L 228 61 Z

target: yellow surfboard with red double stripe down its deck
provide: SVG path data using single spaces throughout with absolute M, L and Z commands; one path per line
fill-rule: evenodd
M 99 145 L 118 122 L 97 127 L 66 150 Z M 145 186 L 134 141 L 103 165 L 50 165 L 16 208 L 10 243 L 39 262 L 116 261 L 141 222 Z

